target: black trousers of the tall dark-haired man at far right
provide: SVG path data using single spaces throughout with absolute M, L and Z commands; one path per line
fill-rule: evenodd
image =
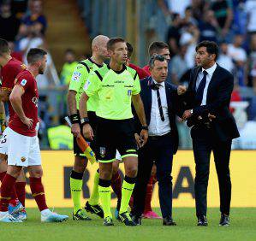
M 213 152 L 220 194 L 220 211 L 229 215 L 231 201 L 231 180 L 229 157 L 232 140 L 218 141 L 214 131 L 207 126 L 193 126 L 193 156 L 195 160 L 194 194 L 196 215 L 206 215 L 207 186 L 209 179 L 210 157 Z

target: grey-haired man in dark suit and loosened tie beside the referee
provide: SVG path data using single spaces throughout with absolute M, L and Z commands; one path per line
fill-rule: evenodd
M 151 176 L 153 162 L 155 162 L 163 224 L 174 226 L 176 223 L 172 220 L 172 177 L 170 174 L 173 155 L 176 154 L 179 143 L 176 127 L 176 113 L 179 108 L 178 94 L 182 94 L 186 89 L 184 90 L 184 86 L 176 88 L 175 85 L 165 82 L 168 62 L 163 56 L 152 56 L 149 66 L 152 76 L 140 80 L 140 97 L 145 108 L 149 138 L 143 145 L 140 143 L 140 137 L 136 135 L 140 149 L 132 215 L 134 221 L 140 225 L 145 207 L 146 185 Z M 180 116 L 182 116 L 182 111 Z M 139 123 L 136 116 L 135 123 Z M 137 125 L 136 131 L 140 133 L 140 125 Z

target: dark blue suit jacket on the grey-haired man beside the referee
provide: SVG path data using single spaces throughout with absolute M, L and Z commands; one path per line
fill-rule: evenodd
M 144 104 L 145 115 L 146 115 L 146 124 L 149 126 L 151 120 L 151 110 L 152 110 L 152 77 L 146 77 L 145 79 L 140 80 L 140 97 Z M 174 154 L 178 149 L 179 145 L 179 135 L 176 126 L 176 115 L 182 116 L 182 102 L 179 100 L 177 95 L 176 85 L 171 85 L 167 82 L 164 82 L 165 91 L 166 91 L 166 100 L 168 104 L 168 114 L 170 120 L 171 136 L 174 141 Z M 140 120 L 136 114 L 134 114 L 136 132 L 140 133 L 141 125 Z

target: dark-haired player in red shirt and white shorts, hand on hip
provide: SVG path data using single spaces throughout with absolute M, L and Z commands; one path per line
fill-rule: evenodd
M 9 215 L 8 205 L 15 181 L 23 167 L 27 167 L 29 172 L 30 188 L 41 212 L 41 221 L 59 222 L 68 219 L 67 215 L 57 215 L 48 209 L 44 185 L 41 181 L 43 169 L 36 132 L 39 122 L 39 91 L 35 78 L 45 71 L 46 55 L 45 50 L 29 50 L 28 67 L 16 76 L 15 86 L 9 96 L 15 115 L 8 127 L 8 168 L 1 185 L 0 200 L 0 221 L 2 222 L 22 222 Z

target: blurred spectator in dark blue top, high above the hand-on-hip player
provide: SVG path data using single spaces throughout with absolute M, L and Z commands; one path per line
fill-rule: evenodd
M 20 37 L 27 36 L 33 31 L 39 32 L 42 35 L 45 34 L 47 21 L 45 15 L 43 15 L 43 2 L 41 0 L 31 0 L 28 3 L 30 13 L 21 20 L 21 26 L 19 30 Z

